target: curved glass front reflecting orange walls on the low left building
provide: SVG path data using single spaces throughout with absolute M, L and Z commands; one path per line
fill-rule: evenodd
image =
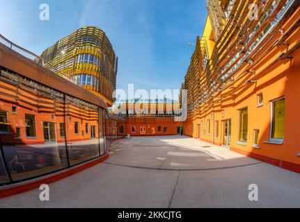
M 2 69 L 0 185 L 68 169 L 109 152 L 124 121 L 106 109 Z

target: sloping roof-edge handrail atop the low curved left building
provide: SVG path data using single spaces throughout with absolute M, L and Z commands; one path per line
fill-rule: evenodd
M 49 62 L 47 62 L 47 60 L 41 58 L 40 56 L 36 55 L 35 53 L 33 53 L 33 52 L 31 52 L 31 51 L 29 51 L 27 49 L 24 49 L 21 46 L 18 46 L 17 44 L 11 42 L 6 37 L 4 37 L 3 35 L 0 34 L 0 42 L 2 42 L 1 40 L 3 40 L 4 44 L 6 44 L 6 46 L 10 47 L 10 49 L 13 49 L 15 47 L 15 48 L 19 49 L 20 51 L 22 51 L 22 52 L 24 52 L 26 54 L 29 54 L 30 56 L 33 56 L 34 59 L 32 59 L 31 57 L 29 57 L 29 55 L 22 54 L 22 56 L 25 56 L 26 58 L 29 58 L 30 60 L 33 60 L 33 62 L 38 63 L 38 65 L 42 65 L 42 67 L 45 67 L 46 69 L 49 69 L 50 71 L 53 71 L 58 76 L 61 76 L 61 77 L 65 78 L 65 79 L 67 79 L 67 80 L 69 80 L 70 82 L 73 83 L 72 78 L 70 78 L 70 76 L 67 76 L 67 75 L 63 74 L 61 71 L 59 71 L 58 69 L 56 69 L 56 67 L 54 67 Z M 13 49 L 13 51 L 16 51 L 16 50 Z

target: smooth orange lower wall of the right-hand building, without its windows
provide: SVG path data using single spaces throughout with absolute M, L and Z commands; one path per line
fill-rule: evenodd
M 300 9 L 285 23 L 283 30 L 288 30 L 292 24 L 300 17 Z M 299 140 L 299 96 L 300 96 L 300 51 L 296 49 L 291 56 L 276 60 L 281 53 L 285 53 L 293 46 L 297 46 L 300 42 L 300 29 L 294 30 L 294 33 L 287 38 L 287 45 L 271 46 L 265 45 L 267 54 L 260 58 L 260 53 L 255 56 L 253 69 L 257 76 L 256 83 L 246 85 L 243 89 L 237 91 L 235 96 L 224 99 L 219 106 L 214 106 L 205 113 L 189 117 L 189 120 L 184 123 L 184 134 L 191 137 L 203 139 L 207 142 L 214 141 L 214 144 L 221 145 L 223 121 L 231 119 L 231 144 L 230 148 L 234 151 L 243 154 L 253 153 L 260 157 L 268 157 L 281 161 L 300 164 L 300 140 Z M 274 39 L 280 38 L 280 33 L 274 34 Z M 270 41 L 272 42 L 272 41 Z M 274 64 L 273 64 L 274 63 Z M 271 65 L 273 64 L 273 65 Z M 242 75 L 242 71 L 241 74 Z M 237 76 L 239 76 L 237 75 Z M 244 78 L 232 85 L 238 87 L 246 82 L 248 78 L 253 77 L 253 74 L 246 74 Z M 228 92 L 228 89 L 226 89 Z M 258 94 L 263 96 L 263 105 L 258 106 Z M 270 123 L 271 123 L 271 101 L 278 99 L 281 96 L 285 97 L 285 133 L 283 144 L 270 144 Z M 245 145 L 238 143 L 239 141 L 239 110 L 248 108 L 248 132 L 247 142 Z M 212 115 L 213 114 L 213 115 Z M 210 119 L 211 132 L 207 133 L 207 119 Z M 203 121 L 204 131 L 198 133 L 198 124 Z M 215 121 L 219 121 L 219 138 L 213 134 L 213 129 L 216 128 Z M 254 129 L 260 130 L 259 146 L 260 149 L 253 148 Z

